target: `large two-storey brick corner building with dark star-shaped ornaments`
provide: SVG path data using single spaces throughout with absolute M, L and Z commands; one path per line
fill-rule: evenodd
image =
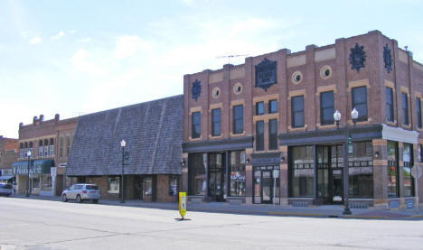
M 422 165 L 422 84 L 423 65 L 379 31 L 185 75 L 182 188 L 191 200 L 343 204 L 345 190 L 352 207 L 405 206 Z

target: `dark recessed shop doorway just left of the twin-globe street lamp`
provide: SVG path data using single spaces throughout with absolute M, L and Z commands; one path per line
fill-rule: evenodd
M 343 204 L 343 145 L 316 146 L 317 199 Z

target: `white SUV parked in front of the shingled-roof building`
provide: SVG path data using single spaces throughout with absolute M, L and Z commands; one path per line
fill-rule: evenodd
M 61 192 L 61 201 L 63 202 L 66 202 L 69 199 L 75 199 L 78 203 L 83 200 L 92 200 L 93 203 L 97 203 L 99 202 L 99 198 L 99 187 L 96 184 L 73 184 L 71 188 Z

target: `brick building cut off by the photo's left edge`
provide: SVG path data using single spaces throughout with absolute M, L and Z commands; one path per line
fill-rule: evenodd
M 0 135 L 0 182 L 14 182 L 12 163 L 17 159 L 18 142 Z

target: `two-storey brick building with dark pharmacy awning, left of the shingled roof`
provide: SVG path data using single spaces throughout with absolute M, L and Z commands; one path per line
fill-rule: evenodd
M 60 120 L 59 115 L 44 121 L 44 116 L 40 115 L 33 117 L 31 125 L 19 125 L 18 161 L 13 163 L 19 194 L 27 190 L 28 167 L 32 194 L 61 194 L 66 184 L 64 168 L 76 123 L 76 118 Z M 31 152 L 29 159 L 28 152 Z

